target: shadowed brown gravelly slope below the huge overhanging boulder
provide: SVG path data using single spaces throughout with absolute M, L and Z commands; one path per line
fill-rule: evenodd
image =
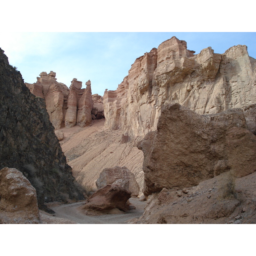
M 148 196 L 143 216 L 129 224 L 256 224 L 256 172 L 222 173 L 198 186 L 163 188 Z

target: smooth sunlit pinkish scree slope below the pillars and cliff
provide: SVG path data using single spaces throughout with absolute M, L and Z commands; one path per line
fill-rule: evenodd
M 75 135 L 61 129 L 64 137 L 62 150 L 72 166 L 73 176 L 86 189 L 97 189 L 96 181 L 105 168 L 126 166 L 143 189 L 143 152 L 121 131 L 109 131 L 105 119 L 93 120 L 92 126 L 78 129 Z

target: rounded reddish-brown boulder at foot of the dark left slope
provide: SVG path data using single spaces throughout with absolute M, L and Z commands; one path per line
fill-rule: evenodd
M 39 224 L 35 188 L 17 169 L 0 170 L 0 224 Z

